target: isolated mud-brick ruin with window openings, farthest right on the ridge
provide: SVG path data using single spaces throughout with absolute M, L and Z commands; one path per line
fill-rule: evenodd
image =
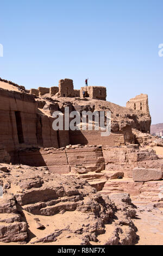
M 148 106 L 148 95 L 140 94 L 130 99 L 126 103 L 126 107 L 131 108 L 135 111 L 140 111 L 143 114 L 149 114 L 149 106 Z

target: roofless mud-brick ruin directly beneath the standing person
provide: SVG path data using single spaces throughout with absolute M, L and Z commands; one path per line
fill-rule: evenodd
M 106 88 L 102 86 L 85 86 L 80 89 L 80 97 L 83 97 L 85 92 L 86 97 L 95 100 L 106 100 Z

